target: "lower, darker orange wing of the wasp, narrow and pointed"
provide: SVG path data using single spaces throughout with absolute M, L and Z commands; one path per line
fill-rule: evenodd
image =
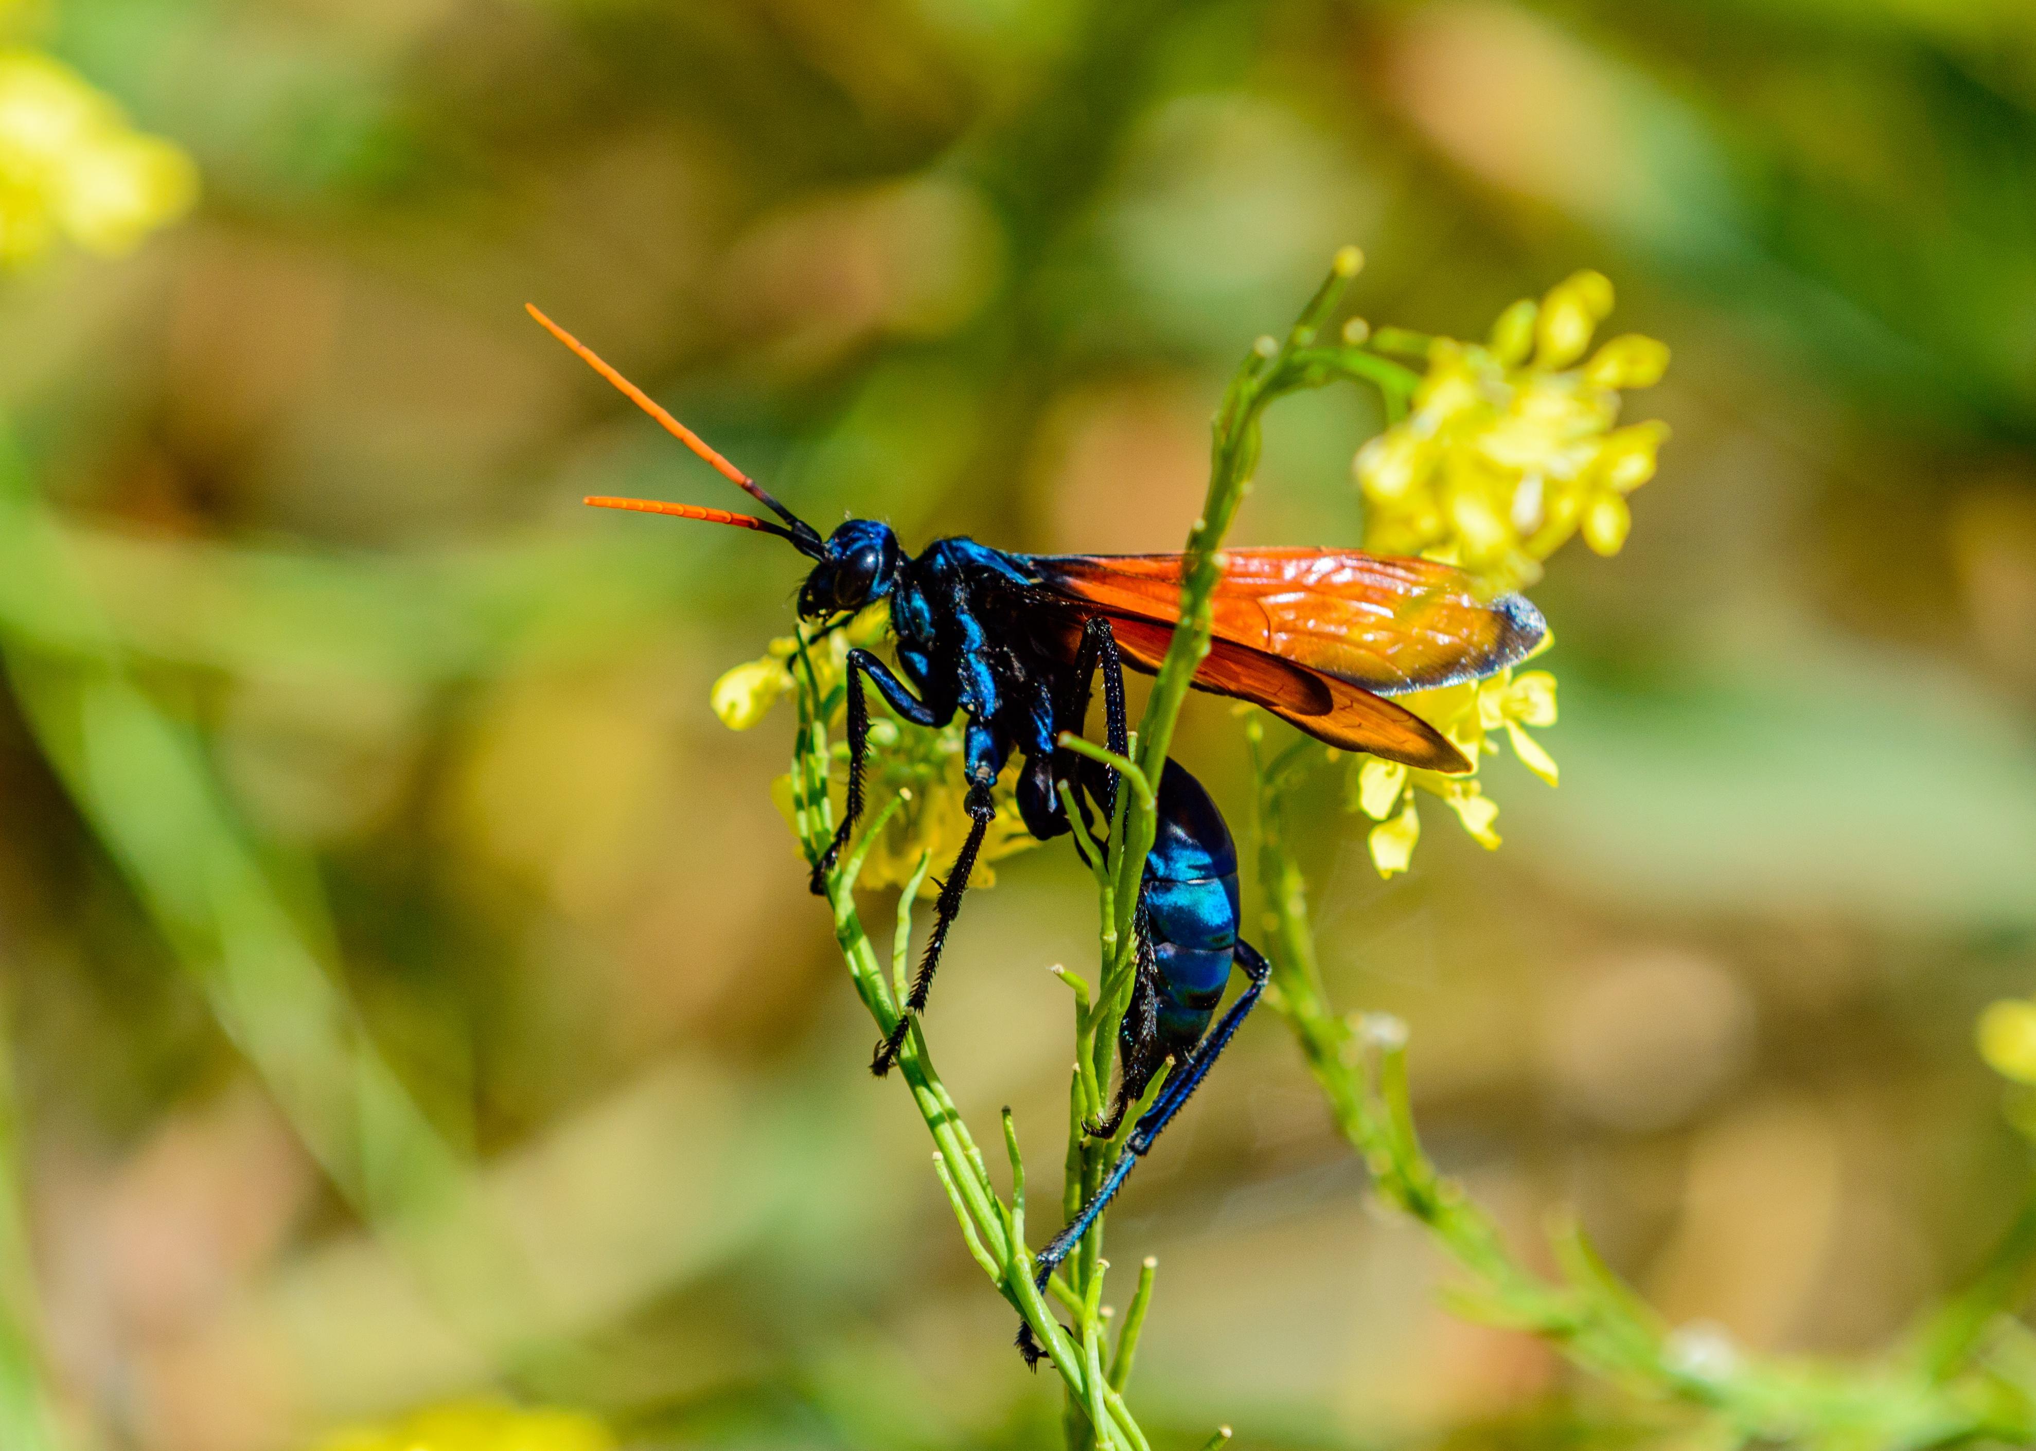
M 1173 621 L 1110 615 L 1126 663 L 1154 672 L 1167 657 Z M 1073 653 L 1077 631 L 1069 631 Z M 1317 741 L 1346 751 L 1370 751 L 1429 771 L 1468 771 L 1470 761 L 1427 720 L 1336 676 L 1297 665 L 1228 639 L 1209 641 L 1209 655 L 1195 670 L 1195 688 L 1264 706 Z

